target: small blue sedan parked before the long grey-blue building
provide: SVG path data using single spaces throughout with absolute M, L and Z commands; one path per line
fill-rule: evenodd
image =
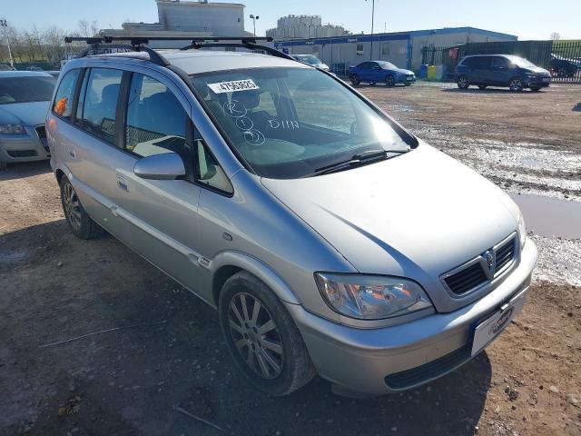
M 416 82 L 416 74 L 413 71 L 398 68 L 385 61 L 368 61 L 351 66 L 349 78 L 353 85 L 367 82 L 368 84 L 387 84 L 388 86 L 396 84 L 409 86 Z

